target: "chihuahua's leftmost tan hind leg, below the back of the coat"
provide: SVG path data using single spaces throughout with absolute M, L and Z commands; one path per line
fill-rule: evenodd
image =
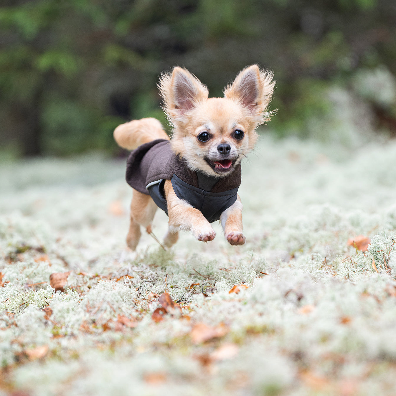
M 131 201 L 131 222 L 129 224 L 126 244 L 135 250 L 141 236 L 140 226 L 151 232 L 151 222 L 154 219 L 156 204 L 149 195 L 133 190 Z

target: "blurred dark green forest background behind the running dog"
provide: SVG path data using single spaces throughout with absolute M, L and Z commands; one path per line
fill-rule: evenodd
M 9 156 L 118 154 L 118 124 L 154 116 L 166 125 L 156 83 L 174 65 L 211 96 L 247 65 L 272 69 L 269 129 L 279 137 L 351 145 L 354 128 L 357 140 L 364 129 L 396 133 L 395 0 L 0 4 L 0 151 Z

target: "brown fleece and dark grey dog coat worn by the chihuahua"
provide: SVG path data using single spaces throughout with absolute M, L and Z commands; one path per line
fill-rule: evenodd
M 159 208 L 168 214 L 164 194 L 165 180 L 170 180 L 179 199 L 187 201 L 213 223 L 237 198 L 241 184 L 238 164 L 227 177 L 207 176 L 187 168 L 184 158 L 175 154 L 169 140 L 145 143 L 129 154 L 126 181 L 135 190 L 150 195 Z

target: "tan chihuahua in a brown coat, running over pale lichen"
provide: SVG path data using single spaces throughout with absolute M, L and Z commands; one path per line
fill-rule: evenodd
M 208 98 L 208 89 L 186 69 L 163 74 L 159 88 L 173 127 L 172 139 L 155 118 L 133 120 L 114 130 L 121 147 L 133 150 L 126 179 L 133 187 L 126 242 L 135 250 L 140 226 L 151 232 L 157 207 L 169 216 L 164 244 L 179 230 L 208 242 L 220 220 L 231 245 L 242 245 L 242 203 L 237 194 L 240 162 L 257 140 L 255 129 L 266 112 L 275 83 L 272 73 L 252 65 L 225 88 L 224 98 Z

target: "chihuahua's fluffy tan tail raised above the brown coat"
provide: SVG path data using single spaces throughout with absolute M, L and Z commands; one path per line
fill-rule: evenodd
M 119 125 L 113 133 L 115 141 L 122 148 L 135 148 L 156 139 L 168 139 L 169 136 L 155 118 L 142 118 Z

